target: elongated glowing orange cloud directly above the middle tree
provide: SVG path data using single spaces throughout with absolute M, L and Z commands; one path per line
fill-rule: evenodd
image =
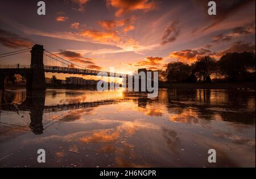
M 200 49 L 186 49 L 183 51 L 175 51 L 171 52 L 169 57 L 170 58 L 176 58 L 180 61 L 185 61 L 187 63 L 193 63 L 193 61 L 196 61 L 199 56 L 204 56 L 204 55 L 214 55 L 212 51 L 209 49 L 205 48 L 200 48 Z

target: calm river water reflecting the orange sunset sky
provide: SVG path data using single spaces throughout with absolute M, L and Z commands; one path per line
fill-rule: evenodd
M 255 167 L 255 90 L 6 90 L 0 166 Z

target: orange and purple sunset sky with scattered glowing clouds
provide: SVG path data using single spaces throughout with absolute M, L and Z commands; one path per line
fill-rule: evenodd
M 255 51 L 253 0 L 215 1 L 216 15 L 206 0 L 47 0 L 46 15 L 37 14 L 38 2 L 0 1 L 0 54 L 41 44 L 88 69 L 132 74 Z M 30 64 L 30 54 L 0 62 Z

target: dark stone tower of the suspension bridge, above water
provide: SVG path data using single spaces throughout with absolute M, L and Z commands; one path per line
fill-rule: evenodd
M 43 55 L 44 48 L 43 45 L 35 44 L 32 47 L 31 53 L 31 70 L 32 79 L 30 88 L 32 90 L 46 90 L 46 76 L 44 74 L 44 63 Z

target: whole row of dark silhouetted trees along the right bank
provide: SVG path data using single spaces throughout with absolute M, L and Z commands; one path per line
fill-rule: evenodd
M 254 82 L 255 52 L 226 53 L 220 60 L 200 56 L 191 65 L 180 61 L 159 70 L 164 82 Z

